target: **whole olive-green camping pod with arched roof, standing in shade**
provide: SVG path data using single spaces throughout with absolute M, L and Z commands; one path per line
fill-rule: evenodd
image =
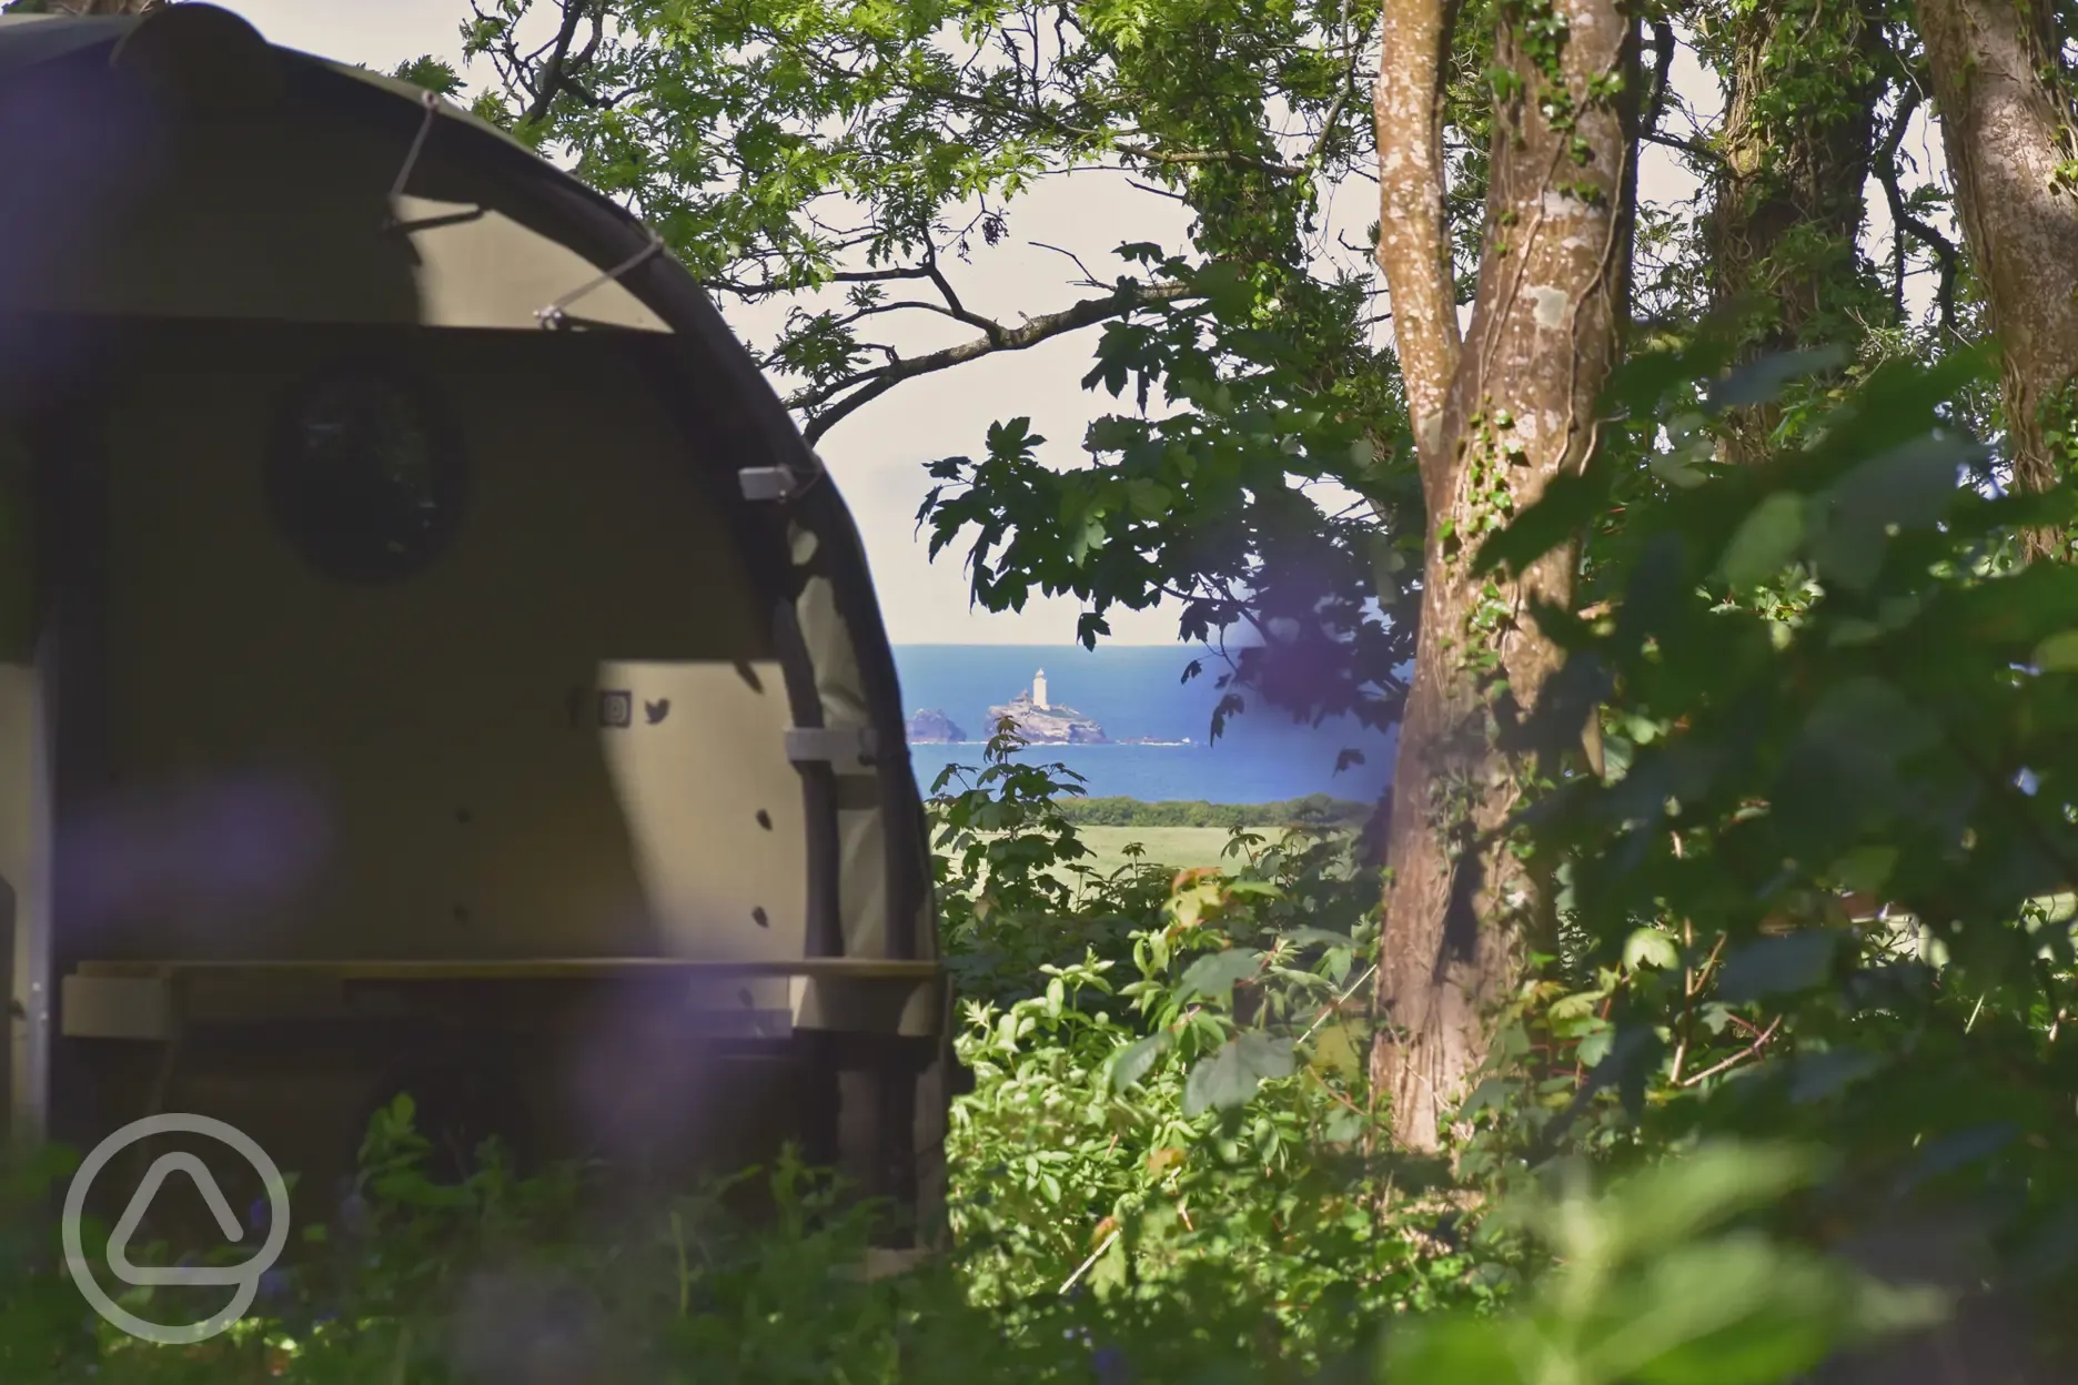
M 948 993 L 858 536 L 696 280 L 243 19 L 0 19 L 17 1136 L 937 1206 Z M 443 1144 L 445 1142 L 445 1144 Z

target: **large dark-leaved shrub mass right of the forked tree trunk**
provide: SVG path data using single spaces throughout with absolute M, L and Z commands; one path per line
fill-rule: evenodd
M 1486 559 L 1629 486 L 1631 449 L 1698 405 L 1689 370 L 1640 363 L 1625 444 Z M 1837 1152 L 1797 1235 L 1962 1217 L 1999 1294 L 2078 1287 L 2078 573 L 2007 559 L 2068 494 L 1966 484 L 1982 449 L 1947 401 L 1980 370 L 1887 363 L 1766 467 L 1633 488 L 1596 615 L 1540 613 L 1569 652 L 1542 712 L 1600 706 L 1613 772 L 1534 810 L 1579 955 L 1523 997 L 1473 1167 L 1791 1138 Z M 1760 374 L 1739 388 L 1766 399 Z

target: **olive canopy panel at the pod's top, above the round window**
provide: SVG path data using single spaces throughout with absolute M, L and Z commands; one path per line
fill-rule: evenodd
M 0 71 L 15 127 L 46 131 L 0 150 L 4 309 L 538 328 L 574 299 L 592 324 L 669 330 L 544 224 L 530 181 L 480 162 L 497 141 L 540 164 L 522 145 L 430 91 L 274 50 L 227 10 L 12 17 Z M 345 83 L 407 98 L 411 141 L 341 118 L 326 85 Z

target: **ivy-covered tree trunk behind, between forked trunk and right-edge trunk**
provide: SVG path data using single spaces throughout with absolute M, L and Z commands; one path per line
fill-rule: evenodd
M 1731 12 L 1723 164 L 1704 239 L 1712 307 L 1743 316 L 1750 353 L 1851 343 L 1862 334 L 1856 309 L 1879 309 L 1856 243 L 1883 42 L 1883 15 L 1858 2 L 1766 0 Z M 1766 457 L 1779 417 L 1741 409 L 1727 461 Z

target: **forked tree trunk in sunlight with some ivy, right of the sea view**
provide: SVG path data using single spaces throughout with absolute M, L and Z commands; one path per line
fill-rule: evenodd
M 1374 1088 L 1392 1134 L 1434 1150 L 1484 1063 L 1492 1007 L 1548 926 L 1509 818 L 1538 750 L 1521 735 L 1558 652 L 1534 600 L 1569 604 L 1575 554 L 1473 577 L 1480 542 L 1594 446 L 1615 357 L 1637 27 L 1615 0 L 1504 4 L 1480 287 L 1463 345 L 1442 239 L 1438 77 L 1450 10 L 1386 0 L 1378 260 L 1430 513 L 1415 679 L 1401 723 L 1378 966 Z M 1556 37 L 1552 37 L 1556 33 Z M 1409 311 L 1415 309 L 1415 311 Z

